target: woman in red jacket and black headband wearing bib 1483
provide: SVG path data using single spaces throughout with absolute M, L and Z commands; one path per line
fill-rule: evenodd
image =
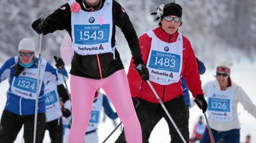
M 188 142 L 189 130 L 181 77 L 186 80 L 187 87 L 203 112 L 207 109 L 196 56 L 189 40 L 178 31 L 182 25 L 180 5 L 161 5 L 157 12 L 152 14 L 157 15 L 155 21 L 159 21 L 159 26 L 139 38 L 142 59 L 147 63 L 154 89 Z M 150 86 L 141 81 L 133 67 L 135 65 L 132 60 L 127 77 L 133 101 L 139 101 L 136 112 L 142 128 L 143 143 L 148 142 L 152 130 L 162 118 L 168 123 L 171 142 L 183 142 Z M 123 132 L 116 142 L 125 142 Z

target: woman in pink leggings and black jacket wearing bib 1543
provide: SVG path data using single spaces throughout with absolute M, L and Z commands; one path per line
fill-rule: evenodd
M 71 99 L 73 123 L 69 143 L 82 143 L 90 119 L 96 89 L 102 88 L 111 99 L 123 122 L 128 143 L 141 143 L 141 127 L 133 107 L 126 74 L 115 48 L 115 27 L 121 28 L 132 52 L 136 70 L 142 80 L 148 79 L 138 37 L 129 16 L 113 0 L 73 0 L 57 8 L 44 22 L 32 23 L 38 34 L 66 30 L 73 49 L 64 52 L 63 60 L 71 62 Z M 65 45 L 64 43 L 62 45 Z M 62 51 L 63 54 L 63 51 Z

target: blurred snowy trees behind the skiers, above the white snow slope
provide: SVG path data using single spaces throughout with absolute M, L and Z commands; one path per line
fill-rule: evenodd
M 117 0 L 127 11 L 138 36 L 155 28 L 150 15 L 167 0 Z M 67 0 L 1 0 L 0 5 L 0 61 L 17 53 L 18 42 L 24 37 L 32 37 L 38 43 L 38 35 L 31 23 L 43 14 L 45 17 L 65 4 Z M 191 42 L 198 58 L 207 65 L 214 66 L 219 56 L 229 59 L 255 58 L 256 53 L 256 1 L 255 0 L 177 0 L 183 8 L 183 26 L 180 31 Z M 59 46 L 65 31 L 47 35 L 43 40 L 45 59 L 53 61 L 59 55 Z M 116 37 L 119 46 L 125 47 L 122 33 Z M 126 50 L 129 52 L 129 50 Z M 239 53 L 233 54 L 233 52 Z M 218 53 L 219 56 L 212 55 Z

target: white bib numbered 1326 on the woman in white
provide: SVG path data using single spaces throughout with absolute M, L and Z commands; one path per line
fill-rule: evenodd
M 233 96 L 234 90 L 220 91 L 214 87 L 214 82 L 208 85 L 208 118 L 218 122 L 230 122 L 233 120 Z

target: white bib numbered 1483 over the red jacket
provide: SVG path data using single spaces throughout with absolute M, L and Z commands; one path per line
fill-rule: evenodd
M 146 65 L 150 72 L 150 81 L 161 85 L 178 82 L 182 69 L 182 35 L 179 33 L 176 42 L 167 43 L 160 40 L 153 31 L 148 31 L 146 34 L 152 38 Z

